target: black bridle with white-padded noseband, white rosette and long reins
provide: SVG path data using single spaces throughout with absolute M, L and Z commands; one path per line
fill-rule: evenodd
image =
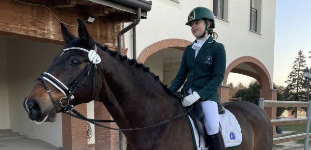
M 67 115 L 69 115 L 69 116 L 72 116 L 72 117 L 75 117 L 75 118 L 78 118 L 78 119 L 81 119 L 81 120 L 86 120 L 86 121 L 88 121 L 88 122 L 90 122 L 92 124 L 95 124 L 95 125 L 98 125 L 98 126 L 101 126 L 101 127 L 104 127 L 104 128 L 112 129 L 112 130 L 132 131 L 132 130 L 141 130 L 141 129 L 147 129 L 147 128 L 151 128 L 151 127 L 156 127 L 156 126 L 162 125 L 162 124 L 167 123 L 167 122 L 169 122 L 171 120 L 180 118 L 180 117 L 186 115 L 188 112 L 190 112 L 192 110 L 192 108 L 191 108 L 189 111 L 187 111 L 185 113 L 181 113 L 181 114 L 175 116 L 174 118 L 172 118 L 170 120 L 164 120 L 164 121 L 162 121 L 160 123 L 157 123 L 157 124 L 154 124 L 154 125 L 151 125 L 151 126 L 148 126 L 148 127 L 142 127 L 142 128 L 117 129 L 117 128 L 111 128 L 111 127 L 108 127 L 108 126 L 104 126 L 104 125 L 95 123 L 95 122 L 114 122 L 114 120 L 93 120 L 93 119 L 88 119 L 85 116 L 83 116 L 81 113 L 79 113 L 73 107 L 73 105 L 71 103 L 72 103 L 72 99 L 74 99 L 74 95 L 73 94 L 79 88 L 80 84 L 84 81 L 85 77 L 90 74 L 90 71 L 92 70 L 92 68 L 94 68 L 94 76 L 93 76 L 92 98 L 90 99 L 90 101 L 92 101 L 94 96 L 95 96 L 95 90 L 96 90 L 95 89 L 95 79 L 96 79 L 96 72 L 97 72 L 97 65 L 96 64 L 98 64 L 101 61 L 99 55 L 97 54 L 97 46 L 95 45 L 94 50 L 90 50 L 90 51 L 88 51 L 88 50 L 86 50 L 84 48 L 81 48 L 81 47 L 66 48 L 66 49 L 63 49 L 63 53 L 68 51 L 68 50 L 82 50 L 82 51 L 85 51 L 86 53 L 88 53 L 88 58 L 90 60 L 87 63 L 87 65 L 85 66 L 84 71 L 80 74 L 80 76 L 74 82 L 74 84 L 71 86 L 70 89 L 67 88 L 56 77 L 54 77 L 53 75 L 51 75 L 50 73 L 47 73 L 47 72 L 42 73 L 41 76 L 36 79 L 36 81 L 37 80 L 41 80 L 43 82 L 44 87 L 45 87 L 46 91 L 48 92 L 48 94 L 49 94 L 49 96 L 51 98 L 51 101 L 53 103 L 53 106 L 54 106 L 53 109 L 55 109 L 56 112 L 57 112 L 56 105 L 59 104 L 61 107 L 64 107 L 62 112 L 67 114 Z M 50 90 L 50 88 L 49 88 L 49 86 L 48 86 L 46 81 L 51 83 L 55 88 L 57 88 L 58 90 L 60 90 L 64 94 L 65 97 L 60 98 L 58 100 L 59 101 L 58 103 L 56 103 L 54 98 L 52 97 L 51 90 Z M 66 105 L 62 105 L 62 101 L 61 101 L 62 99 L 66 99 L 67 100 L 67 104 Z M 69 113 L 69 110 L 71 112 L 73 112 L 74 114 L 76 114 L 76 115 L 73 115 L 73 114 Z

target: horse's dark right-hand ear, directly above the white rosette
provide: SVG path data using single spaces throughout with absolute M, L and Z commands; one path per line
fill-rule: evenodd
M 81 19 L 78 19 L 79 22 L 79 36 L 85 42 L 85 44 L 89 45 L 94 49 L 95 42 L 93 38 L 89 35 L 88 31 L 86 30 L 85 24 Z

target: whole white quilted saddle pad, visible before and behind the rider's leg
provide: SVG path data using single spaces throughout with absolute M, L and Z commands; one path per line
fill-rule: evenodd
M 198 129 L 196 128 L 193 120 L 190 117 L 189 119 L 193 127 L 198 150 L 205 150 L 205 142 L 202 136 L 198 133 Z M 238 147 L 239 145 L 241 145 L 241 127 L 235 116 L 230 111 L 225 109 L 225 113 L 219 115 L 219 122 L 222 126 L 222 133 L 226 148 Z

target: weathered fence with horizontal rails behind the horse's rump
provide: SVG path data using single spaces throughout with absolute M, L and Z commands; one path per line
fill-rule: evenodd
M 304 150 L 308 150 L 309 138 L 311 135 L 310 134 L 311 101 L 308 101 L 308 102 L 276 101 L 276 100 L 264 100 L 263 98 L 259 98 L 258 106 L 262 109 L 264 109 L 264 107 L 308 107 L 307 118 L 288 119 L 288 120 L 271 120 L 272 126 L 307 123 L 306 133 L 273 138 L 273 144 L 279 144 L 279 143 L 295 141 L 299 139 L 305 139 L 305 141 L 307 142 L 305 142 Z

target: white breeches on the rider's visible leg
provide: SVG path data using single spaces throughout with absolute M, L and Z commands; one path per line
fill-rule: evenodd
M 202 101 L 204 109 L 204 125 L 208 135 L 214 135 L 219 132 L 218 107 L 215 101 Z

